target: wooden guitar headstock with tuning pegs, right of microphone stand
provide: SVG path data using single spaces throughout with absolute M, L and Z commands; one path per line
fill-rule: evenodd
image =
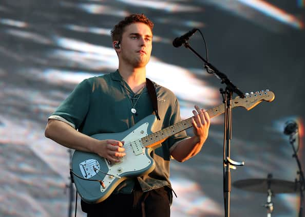
M 256 91 L 255 93 L 251 92 L 250 94 L 246 93 L 245 98 L 240 98 L 239 96 L 235 97 L 235 99 L 233 99 L 232 107 L 242 106 L 246 108 L 246 110 L 251 110 L 262 101 L 272 102 L 274 97 L 274 93 L 269 90 Z

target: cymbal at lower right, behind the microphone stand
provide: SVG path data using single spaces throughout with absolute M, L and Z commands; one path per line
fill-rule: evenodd
M 266 193 L 271 189 L 273 193 L 292 193 L 298 190 L 298 184 L 279 179 L 245 179 L 233 183 L 234 187 L 246 191 Z

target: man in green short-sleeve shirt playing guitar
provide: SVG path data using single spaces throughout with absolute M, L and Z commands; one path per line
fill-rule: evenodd
M 68 148 L 95 153 L 118 163 L 126 154 L 124 141 L 97 140 L 90 135 L 126 131 L 151 114 L 160 117 L 155 124 L 156 131 L 180 122 L 177 97 L 168 89 L 151 83 L 158 101 L 158 111 L 154 111 L 154 99 L 148 90 L 145 67 L 152 49 L 153 26 L 144 14 L 132 14 L 113 28 L 112 46 L 119 58 L 119 69 L 82 81 L 49 117 L 46 137 Z M 82 210 L 89 217 L 169 216 L 170 157 L 183 162 L 195 156 L 208 135 L 209 116 L 198 106 L 195 108 L 193 137 L 187 137 L 184 131 L 169 137 L 150 154 L 156 163 L 152 172 L 120 183 L 99 204 L 82 201 Z

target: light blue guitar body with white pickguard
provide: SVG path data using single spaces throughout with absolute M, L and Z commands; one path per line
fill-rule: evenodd
M 125 179 L 142 176 L 154 170 L 155 162 L 149 156 L 151 149 L 141 143 L 141 138 L 153 133 L 155 115 L 149 115 L 122 133 L 95 134 L 98 140 L 115 139 L 124 141 L 126 155 L 120 163 L 110 164 L 108 160 L 92 153 L 75 150 L 72 156 L 72 171 L 75 187 L 87 203 L 99 203 L 107 199 Z M 108 175 L 106 175 L 107 173 Z M 100 182 L 89 180 L 101 180 Z

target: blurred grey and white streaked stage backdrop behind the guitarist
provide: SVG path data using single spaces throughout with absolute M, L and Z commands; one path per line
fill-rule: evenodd
M 275 94 L 273 102 L 233 111 L 231 158 L 245 165 L 232 170 L 232 183 L 269 173 L 294 182 L 297 163 L 283 129 L 287 121 L 297 122 L 304 166 L 304 10 L 303 0 L 1 0 L 0 215 L 74 211 L 69 152 L 44 137 L 47 118 L 80 81 L 117 69 L 110 29 L 131 13 L 144 13 L 155 23 L 147 76 L 178 96 L 183 119 L 192 116 L 194 104 L 205 109 L 221 104 L 219 89 L 225 88 L 190 50 L 173 47 L 174 38 L 193 28 L 205 37 L 208 60 L 242 92 Z M 189 43 L 206 58 L 199 32 Z M 223 115 L 212 120 L 196 157 L 171 161 L 178 196 L 171 216 L 224 215 L 223 121 Z M 266 216 L 266 202 L 267 192 L 232 186 L 232 216 Z M 297 216 L 297 192 L 276 193 L 272 202 L 273 215 Z M 84 216 L 79 206 L 78 216 Z

